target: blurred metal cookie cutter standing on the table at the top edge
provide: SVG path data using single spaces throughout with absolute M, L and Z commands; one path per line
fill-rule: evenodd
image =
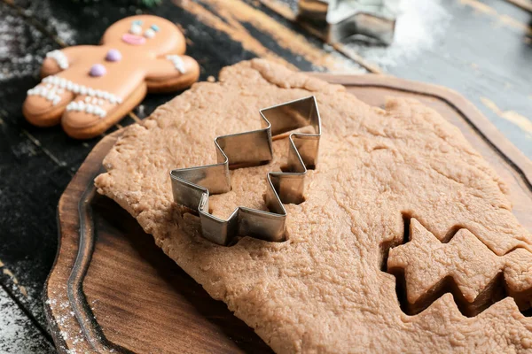
M 398 5 L 399 0 L 300 0 L 298 19 L 316 27 L 326 42 L 357 35 L 389 45 Z

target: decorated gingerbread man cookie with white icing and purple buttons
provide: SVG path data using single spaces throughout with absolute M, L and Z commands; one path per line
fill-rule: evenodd
M 184 50 L 184 35 L 167 19 L 121 19 L 106 30 L 101 45 L 48 53 L 43 81 L 27 91 L 24 115 L 39 127 L 60 121 L 74 138 L 99 135 L 139 104 L 146 91 L 184 89 L 197 81 L 200 66 Z

